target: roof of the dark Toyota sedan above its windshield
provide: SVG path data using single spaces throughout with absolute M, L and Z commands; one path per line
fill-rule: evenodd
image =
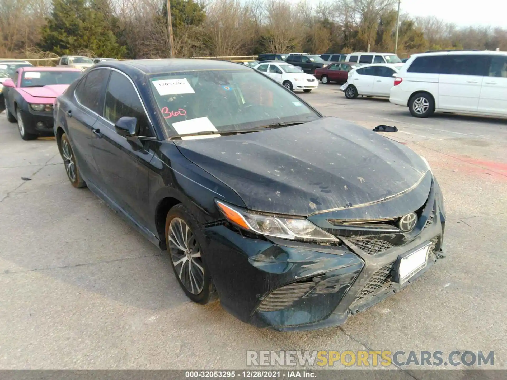
M 237 62 L 219 61 L 212 59 L 190 58 L 161 58 L 161 59 L 133 59 L 128 61 L 104 61 L 93 67 L 114 67 L 121 71 L 140 71 L 143 74 L 163 74 L 167 72 L 194 71 L 194 70 L 220 70 L 220 69 L 243 69 L 250 70 L 246 65 L 238 65 Z

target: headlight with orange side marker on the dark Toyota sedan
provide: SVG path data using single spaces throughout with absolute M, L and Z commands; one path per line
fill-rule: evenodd
M 339 242 L 305 218 L 256 213 L 215 200 L 226 219 L 244 230 L 265 236 L 303 241 Z

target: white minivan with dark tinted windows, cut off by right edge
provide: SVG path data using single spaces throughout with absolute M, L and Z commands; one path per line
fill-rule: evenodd
M 412 116 L 435 111 L 507 116 L 507 52 L 414 54 L 394 79 L 389 100 Z

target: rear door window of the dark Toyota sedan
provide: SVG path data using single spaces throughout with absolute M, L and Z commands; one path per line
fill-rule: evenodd
M 91 70 L 76 87 L 75 95 L 78 101 L 98 115 L 101 115 L 100 98 L 108 75 L 108 69 Z

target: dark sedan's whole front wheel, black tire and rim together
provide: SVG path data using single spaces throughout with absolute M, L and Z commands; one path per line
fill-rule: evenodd
M 187 297 L 201 305 L 213 300 L 216 292 L 202 252 L 204 235 L 185 205 L 178 204 L 167 213 L 165 241 L 172 270 Z

